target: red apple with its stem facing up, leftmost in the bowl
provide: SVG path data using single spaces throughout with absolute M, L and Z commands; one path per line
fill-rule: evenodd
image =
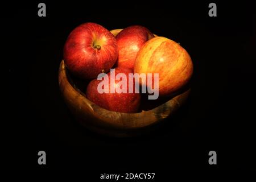
M 96 78 L 108 72 L 118 57 L 117 41 L 110 31 L 96 23 L 84 23 L 69 34 L 64 62 L 80 78 Z

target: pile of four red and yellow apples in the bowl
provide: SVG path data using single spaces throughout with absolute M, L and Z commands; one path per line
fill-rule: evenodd
M 91 80 L 86 88 L 88 100 L 122 113 L 136 113 L 141 94 L 129 93 L 128 86 L 127 93 L 99 93 L 100 73 L 107 73 L 109 80 L 111 68 L 115 68 L 115 75 L 124 73 L 127 78 L 129 73 L 159 73 L 159 97 L 163 98 L 183 88 L 193 72 L 191 57 L 183 47 L 170 39 L 155 37 L 142 26 L 124 28 L 114 36 L 99 24 L 81 24 L 65 42 L 64 63 L 73 75 Z M 109 81 L 107 89 L 115 88 L 118 82 Z

